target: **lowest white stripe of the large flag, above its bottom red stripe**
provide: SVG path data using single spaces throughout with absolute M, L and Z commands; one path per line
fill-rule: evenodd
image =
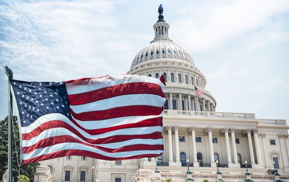
M 136 155 L 142 155 L 142 154 L 161 154 L 162 152 L 164 152 L 163 150 L 136 150 L 136 151 L 128 151 L 128 152 L 108 153 L 108 152 L 104 152 L 102 150 L 96 149 L 91 146 L 86 146 L 80 143 L 59 143 L 53 146 L 36 149 L 29 154 L 23 154 L 23 157 L 24 157 L 24 160 L 28 160 L 33 157 L 42 156 L 42 155 L 46 155 L 46 154 L 50 154 L 50 153 L 62 151 L 62 150 L 91 151 L 91 152 L 95 152 L 103 156 L 114 157 L 114 158 L 136 156 Z

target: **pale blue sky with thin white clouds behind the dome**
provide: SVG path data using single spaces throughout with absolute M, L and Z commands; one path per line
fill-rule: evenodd
M 154 38 L 160 3 L 217 112 L 289 123 L 288 0 L 0 0 L 0 119 L 4 65 L 24 81 L 125 74 Z

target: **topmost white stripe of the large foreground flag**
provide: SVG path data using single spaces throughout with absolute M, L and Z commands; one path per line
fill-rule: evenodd
M 102 78 L 89 79 L 86 81 L 74 81 L 71 83 L 66 83 L 66 89 L 67 89 L 68 95 L 72 95 L 72 94 L 90 92 L 93 90 L 98 90 L 100 88 L 119 85 L 123 83 L 133 83 L 133 82 L 156 83 L 161 86 L 163 91 L 165 89 L 165 85 L 159 79 L 146 77 L 146 76 L 139 76 L 139 75 L 106 76 Z M 82 84 L 79 85 L 79 83 L 82 83 Z

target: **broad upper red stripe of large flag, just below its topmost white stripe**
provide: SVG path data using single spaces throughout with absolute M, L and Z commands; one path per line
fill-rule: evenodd
M 69 95 L 71 105 L 80 105 L 128 94 L 154 94 L 165 97 L 160 85 L 148 82 L 134 82 L 114 85 L 98 90 Z

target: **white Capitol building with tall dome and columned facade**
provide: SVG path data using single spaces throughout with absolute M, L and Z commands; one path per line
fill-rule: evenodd
M 169 23 L 159 14 L 153 40 L 136 54 L 127 74 L 163 75 L 166 81 L 165 152 L 156 159 L 67 156 L 47 160 L 41 162 L 35 181 L 41 182 L 49 169 L 52 182 L 289 182 L 286 121 L 218 112 L 205 75 L 190 54 L 170 39 Z M 194 93 L 195 87 L 202 97 Z

